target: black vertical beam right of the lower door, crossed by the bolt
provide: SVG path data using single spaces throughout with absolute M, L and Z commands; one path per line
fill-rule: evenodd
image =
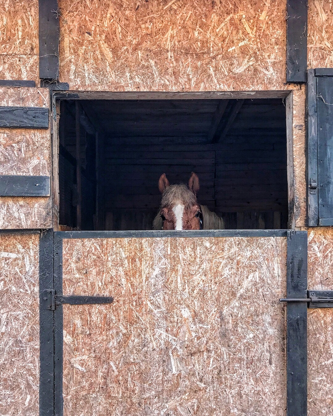
M 307 297 L 306 231 L 288 231 L 287 298 Z M 307 303 L 287 304 L 287 416 L 307 415 Z

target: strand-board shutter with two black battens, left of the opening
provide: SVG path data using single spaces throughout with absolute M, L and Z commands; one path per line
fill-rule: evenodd
M 48 88 L 0 86 L 0 229 L 51 228 Z

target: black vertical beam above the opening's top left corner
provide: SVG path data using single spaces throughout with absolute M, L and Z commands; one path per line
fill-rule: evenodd
M 39 77 L 59 78 L 60 23 L 57 0 L 39 0 Z

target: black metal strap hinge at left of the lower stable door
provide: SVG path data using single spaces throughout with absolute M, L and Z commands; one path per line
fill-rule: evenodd
M 64 303 L 68 303 L 69 305 L 94 305 L 112 302 L 112 296 L 63 296 L 57 295 L 55 290 L 42 291 L 42 307 L 50 311 L 54 311 L 56 306 L 63 305 Z

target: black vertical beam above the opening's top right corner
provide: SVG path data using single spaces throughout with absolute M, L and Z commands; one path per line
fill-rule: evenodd
M 306 82 L 307 0 L 287 0 L 287 82 Z

